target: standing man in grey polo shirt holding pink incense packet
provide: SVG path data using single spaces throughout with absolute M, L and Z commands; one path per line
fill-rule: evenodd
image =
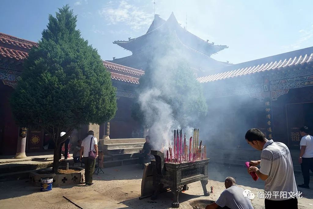
M 267 140 L 256 128 L 248 130 L 245 138 L 253 148 L 262 150 L 260 160 L 250 161 L 248 173 L 256 172 L 265 181 L 265 209 L 297 209 L 298 190 L 288 147 L 284 143 Z M 257 165 L 260 169 L 255 167 Z

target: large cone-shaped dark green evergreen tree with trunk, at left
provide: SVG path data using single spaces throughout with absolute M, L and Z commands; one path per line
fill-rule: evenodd
M 21 126 L 40 127 L 54 140 L 53 171 L 59 149 L 80 124 L 100 124 L 116 112 L 116 89 L 97 50 L 76 29 L 77 16 L 66 5 L 49 15 L 38 47 L 24 63 L 21 81 L 11 98 Z M 60 132 L 66 134 L 60 137 Z

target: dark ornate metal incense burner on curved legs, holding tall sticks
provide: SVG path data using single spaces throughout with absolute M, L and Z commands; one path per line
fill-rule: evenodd
M 154 195 L 151 196 L 152 200 L 157 198 L 157 195 L 163 188 L 169 187 L 173 193 L 172 207 L 178 208 L 178 195 L 182 187 L 196 181 L 201 181 L 204 195 L 210 195 L 206 188 L 208 184 L 209 159 L 174 164 L 164 162 L 164 154 L 160 151 L 151 150 L 151 154 L 155 157 L 154 160 L 151 160 L 151 165 L 153 166 L 153 186 L 155 189 Z

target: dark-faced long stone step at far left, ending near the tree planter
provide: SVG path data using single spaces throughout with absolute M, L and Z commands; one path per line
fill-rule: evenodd
M 39 168 L 51 167 L 53 160 L 46 162 L 22 161 L 18 163 L 3 163 L 0 165 L 0 174 L 36 170 Z

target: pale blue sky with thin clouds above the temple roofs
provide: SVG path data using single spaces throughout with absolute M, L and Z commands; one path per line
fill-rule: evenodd
M 112 44 L 146 33 L 153 20 L 153 0 L 3 1 L 0 32 L 37 41 L 48 14 L 69 4 L 77 29 L 104 60 L 131 55 Z M 234 64 L 313 46 L 313 1 L 156 0 L 156 13 L 178 22 L 200 38 L 229 48 L 214 59 Z

